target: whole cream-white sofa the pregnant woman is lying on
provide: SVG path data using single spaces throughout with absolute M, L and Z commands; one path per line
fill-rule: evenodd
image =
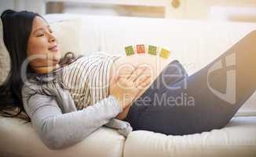
M 256 29 L 256 24 L 250 23 L 70 14 L 45 17 L 51 24 L 56 24 L 53 27 L 59 31 L 57 33 L 66 33 L 60 38 L 63 51 L 71 50 L 83 55 L 96 51 L 124 55 L 124 46 L 163 46 L 172 51 L 171 57 L 181 61 L 189 75 Z M 64 22 L 56 23 L 60 20 L 69 20 L 66 23 L 69 27 L 61 26 Z M 71 27 L 72 24 L 75 27 Z M 225 128 L 185 136 L 166 136 L 140 130 L 125 138 L 116 130 L 102 126 L 82 142 L 53 151 L 42 144 L 31 123 L 23 122 L 22 119 L 0 117 L 0 156 L 256 156 L 255 93 Z

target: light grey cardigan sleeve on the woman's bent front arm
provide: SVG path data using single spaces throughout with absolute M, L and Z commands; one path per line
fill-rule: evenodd
M 123 111 L 115 97 L 109 96 L 82 110 L 62 113 L 54 97 L 38 93 L 24 98 L 24 108 L 38 136 L 50 149 L 67 148 L 82 141 Z

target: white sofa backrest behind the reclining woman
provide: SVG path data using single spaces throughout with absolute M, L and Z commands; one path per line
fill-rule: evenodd
M 125 55 L 125 46 L 137 44 L 163 46 L 170 49 L 171 57 L 185 66 L 188 75 L 256 30 L 256 23 L 78 14 L 48 14 L 45 17 L 50 22 L 81 18 L 82 38 L 78 38 L 81 38 L 84 55 L 96 51 Z M 256 93 L 237 115 L 256 115 Z

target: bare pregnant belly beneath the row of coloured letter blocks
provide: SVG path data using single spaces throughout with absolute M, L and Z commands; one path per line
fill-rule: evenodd
M 148 67 L 148 71 L 144 71 L 143 76 L 150 75 L 151 82 L 148 86 L 144 87 L 141 91 L 140 97 L 151 85 L 152 82 L 159 76 L 161 71 L 169 64 L 173 59 L 164 59 L 159 56 L 154 56 L 150 54 L 134 54 L 132 56 L 123 56 L 115 60 L 112 65 L 110 73 L 110 81 L 115 77 L 115 75 L 129 75 L 137 67 Z M 111 85 L 110 85 L 111 86 Z

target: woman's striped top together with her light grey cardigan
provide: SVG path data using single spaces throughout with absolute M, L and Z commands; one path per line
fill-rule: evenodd
M 129 122 L 114 119 L 123 108 L 109 95 L 109 72 L 117 58 L 94 53 L 47 75 L 26 79 L 24 109 L 48 148 L 70 147 L 101 126 L 124 136 L 132 131 Z

